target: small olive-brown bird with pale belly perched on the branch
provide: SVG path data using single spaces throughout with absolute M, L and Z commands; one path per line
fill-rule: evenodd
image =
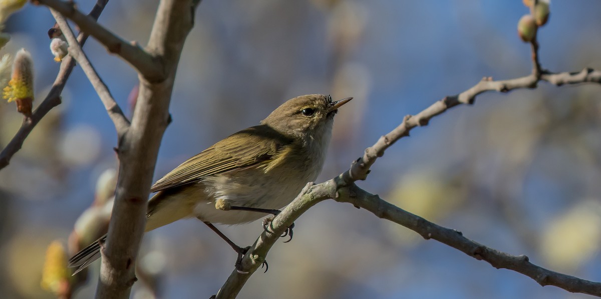
M 291 98 L 259 125 L 186 160 L 151 186 L 156 194 L 148 201 L 144 231 L 195 217 L 224 238 L 240 260 L 245 249 L 213 223 L 248 223 L 290 204 L 322 171 L 334 116 L 350 100 L 322 94 Z M 73 275 L 100 258 L 105 240 L 106 235 L 69 259 L 69 267 L 77 268 Z

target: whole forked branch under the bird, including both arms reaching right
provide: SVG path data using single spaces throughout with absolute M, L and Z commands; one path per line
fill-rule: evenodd
M 553 83 L 557 86 L 563 84 L 601 83 L 601 71 L 585 68 L 578 73 L 552 73 L 542 71 L 538 61 L 538 43 L 532 41 L 532 73 L 529 76 L 508 80 L 492 80 L 484 77 L 476 85 L 457 95 L 450 95 L 436 101 L 430 107 L 416 115 L 407 115 L 397 128 L 380 137 L 377 142 L 367 148 L 362 157 L 355 160 L 349 170 L 332 178 L 325 183 L 307 184 L 301 194 L 291 204 L 276 216 L 272 223 L 272 232 L 263 232 L 251 246 L 242 259 L 242 266 L 234 270 L 224 285 L 219 289 L 216 298 L 235 298 L 248 278 L 260 267 L 265 260 L 267 252 L 284 233 L 294 220 L 305 213 L 310 207 L 320 201 L 334 198 L 340 202 L 350 202 L 355 207 L 362 207 L 376 216 L 391 220 L 418 232 L 426 239 L 433 238 L 441 243 L 461 250 L 466 254 L 489 262 L 496 268 L 507 268 L 536 280 L 540 285 L 554 285 L 570 292 L 581 292 L 601 297 L 601 283 L 590 282 L 573 276 L 556 273 L 531 264 L 526 256 L 512 256 L 499 252 L 481 244 L 475 243 L 461 235 L 460 232 L 442 228 L 435 223 L 401 210 L 388 202 L 382 201 L 377 196 L 371 195 L 355 185 L 357 180 L 365 180 L 370 172 L 370 166 L 382 157 L 384 151 L 398 139 L 409 136 L 409 131 L 418 126 L 429 124 L 434 116 L 444 113 L 451 107 L 459 104 L 474 104 L 475 97 L 486 91 L 508 92 L 518 88 L 535 88 L 540 80 Z

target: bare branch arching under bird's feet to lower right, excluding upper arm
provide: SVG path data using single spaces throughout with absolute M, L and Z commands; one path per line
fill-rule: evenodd
M 429 222 L 422 217 L 404 211 L 389 202 L 383 201 L 377 195 L 372 195 L 355 184 L 338 186 L 336 179 L 322 184 L 308 184 L 290 205 L 279 214 L 272 223 L 273 234 L 263 232 L 251 246 L 242 260 L 240 271 L 234 270 L 224 283 L 216 298 L 236 298 L 246 283 L 246 280 L 256 271 L 266 258 L 267 252 L 279 239 L 279 236 L 310 207 L 328 198 L 338 202 L 349 202 L 355 207 L 364 208 L 377 217 L 398 223 L 417 232 L 424 239 L 437 240 L 460 250 L 472 258 L 489 262 L 495 268 L 505 268 L 524 274 L 542 286 L 552 285 L 569 292 L 578 292 L 601 297 L 601 283 L 579 279 L 578 277 L 557 273 L 529 262 L 525 255 L 515 256 L 484 246 L 463 237 L 454 229 L 444 228 Z

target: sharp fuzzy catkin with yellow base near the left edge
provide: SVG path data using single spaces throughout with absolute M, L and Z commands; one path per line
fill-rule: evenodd
M 13 73 L 4 88 L 4 98 L 17 101 L 17 110 L 31 116 L 31 102 L 34 100 L 34 66 L 31 55 L 20 49 L 14 57 Z

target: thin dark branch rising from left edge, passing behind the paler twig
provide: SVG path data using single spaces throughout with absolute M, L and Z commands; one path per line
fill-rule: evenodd
M 102 11 L 105 9 L 107 2 L 108 0 L 98 0 L 88 16 L 90 16 L 91 19 L 97 20 L 100 16 L 100 13 L 102 13 Z M 87 38 L 88 35 L 84 32 L 81 32 L 78 37 L 79 44 L 84 46 Z M 52 84 L 52 88 L 50 88 L 50 91 L 46 95 L 46 98 L 44 98 L 44 100 L 40 103 L 40 106 L 35 109 L 30 118 L 23 119 L 23 123 L 21 124 L 19 131 L 14 134 L 13 139 L 8 142 L 4 150 L 2 150 L 2 153 L 0 153 L 0 170 L 8 166 L 10 159 L 21 149 L 23 142 L 25 142 L 25 139 L 27 136 L 29 136 L 29 133 L 31 133 L 35 125 L 37 125 L 38 122 L 40 122 L 40 120 L 46 116 L 50 109 L 58 106 L 61 103 L 61 92 L 63 92 L 63 88 L 67 83 L 67 79 L 69 79 L 73 67 L 75 67 L 75 59 L 73 59 L 71 56 L 67 56 L 65 59 L 63 59 L 60 70 L 58 71 L 58 74 L 56 74 L 56 79 Z

